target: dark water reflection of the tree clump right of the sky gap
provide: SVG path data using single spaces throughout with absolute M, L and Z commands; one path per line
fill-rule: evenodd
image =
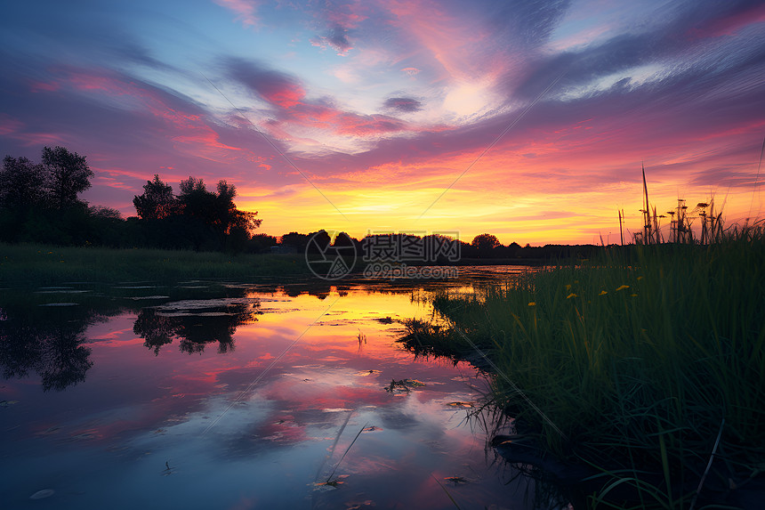
M 233 335 L 238 326 L 257 320 L 254 308 L 260 303 L 221 303 L 183 309 L 178 304 L 144 308 L 138 313 L 133 333 L 143 338 L 144 345 L 155 354 L 165 344 L 180 340 L 182 352 L 203 352 L 205 345 L 218 343 L 218 352 L 234 350 Z

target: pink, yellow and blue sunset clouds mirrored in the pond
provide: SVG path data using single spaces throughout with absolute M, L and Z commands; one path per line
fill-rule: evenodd
M 342 312 L 334 317 L 337 325 L 311 328 L 262 379 L 258 377 L 273 358 L 316 317 L 315 296 L 288 298 L 280 291 L 246 294 L 269 299 L 274 312 L 259 315 L 257 323 L 237 326 L 231 333 L 237 350 L 225 356 L 210 351 L 186 356 L 176 349 L 153 356 L 125 326 L 132 326 L 142 310 L 157 309 L 141 309 L 137 302 L 125 299 L 133 312 L 88 331 L 109 337 L 109 342 L 89 345 L 99 370 L 77 387 L 72 401 L 61 404 L 58 414 L 41 411 L 46 422 L 42 430 L 53 422 L 62 428 L 52 439 L 75 436 L 77 441 L 69 445 L 73 450 L 98 448 L 87 450 L 87 455 L 74 451 L 67 457 L 78 479 L 83 473 L 92 474 L 87 477 L 87 493 L 93 498 L 105 500 L 107 494 L 120 493 L 125 483 L 133 481 L 168 482 L 149 482 L 141 490 L 129 491 L 120 503 L 125 508 L 140 506 L 139 498 L 170 508 L 234 507 L 240 498 L 251 498 L 256 507 L 302 507 L 308 499 L 315 508 L 345 507 L 356 500 L 355 493 L 313 494 L 310 485 L 338 437 L 334 455 L 326 460 L 321 474 L 328 475 L 340 463 L 335 476 L 347 474 L 345 487 L 352 484 L 364 492 L 360 503 L 369 498 L 378 507 L 393 507 L 397 502 L 399 507 L 432 506 L 444 495 L 431 473 L 464 475 L 466 459 L 472 459 L 477 470 L 485 469 L 482 449 L 473 444 L 471 431 L 458 427 L 455 412 L 444 404 L 468 400 L 460 393 L 465 387 L 463 371 L 451 364 L 413 360 L 411 354 L 392 348 L 391 326 L 375 319 L 423 311 L 407 292 L 366 293 L 365 289 L 346 289 L 348 295 L 337 304 Z M 234 290 L 250 292 L 246 287 Z M 330 292 L 336 294 L 335 289 Z M 174 299 L 183 301 L 178 296 Z M 166 309 L 170 316 L 159 315 L 169 322 L 165 329 L 155 326 L 158 333 L 174 335 L 173 320 L 233 317 L 209 316 L 200 306 L 184 318 L 171 308 Z M 10 309 L 3 310 L 10 319 Z M 359 328 L 369 338 L 360 353 Z M 427 386 L 391 397 L 383 390 L 391 377 L 417 378 Z M 68 402 L 78 406 L 80 416 L 74 421 Z M 342 428 L 346 419 L 348 425 Z M 340 462 L 362 427 L 369 432 L 359 435 Z M 114 450 L 120 452 L 119 460 Z M 131 462 L 122 462 L 125 458 Z M 40 467 L 40 457 L 35 460 L 37 472 L 47 475 L 49 468 Z M 165 462 L 173 473 L 159 478 Z M 79 487 L 78 483 L 82 482 L 72 485 Z M 173 483 L 182 489 L 173 489 Z M 476 487 L 485 489 L 479 483 Z M 491 490 L 475 500 L 486 500 Z

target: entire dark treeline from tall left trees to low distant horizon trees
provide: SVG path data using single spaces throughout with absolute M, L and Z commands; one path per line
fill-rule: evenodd
M 476 236 L 470 243 L 438 235 L 419 238 L 402 233 L 368 234 L 360 240 L 346 232 L 334 239 L 326 231 L 293 231 L 281 237 L 256 234 L 262 220 L 257 213 L 238 209 L 234 203 L 235 186 L 221 180 L 214 190 L 208 190 L 202 179 L 193 176 L 181 181 L 176 194 L 155 174 L 144 184 L 143 193 L 133 198 L 136 215 L 123 218 L 114 208 L 91 206 L 79 198 L 91 188 L 91 179 L 93 171 L 85 156 L 63 147 L 44 147 L 40 163 L 6 156 L 0 170 L 0 241 L 235 253 L 304 253 L 333 243 L 335 247 L 356 247 L 361 256 L 370 244 L 387 237 L 390 239 L 382 240 L 399 246 L 404 238 L 409 242 L 447 242 L 458 258 L 487 260 L 589 256 L 597 249 L 592 245 L 520 247 L 515 242 L 505 246 L 488 233 Z M 441 256 L 423 262 L 454 260 Z

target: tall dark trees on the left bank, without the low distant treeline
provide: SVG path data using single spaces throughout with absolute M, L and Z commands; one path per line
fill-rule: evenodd
M 91 206 L 79 195 L 91 188 L 85 156 L 44 147 L 40 163 L 6 156 L 0 169 L 0 241 L 60 246 L 160 247 L 245 251 L 262 220 L 234 203 L 236 188 L 221 180 L 181 181 L 178 195 L 154 176 L 133 198 L 136 216 Z

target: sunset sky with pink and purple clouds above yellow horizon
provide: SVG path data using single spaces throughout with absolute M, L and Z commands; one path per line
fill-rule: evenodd
M 0 7 L 0 157 L 237 186 L 260 231 L 616 242 L 714 198 L 765 214 L 761 1 L 49 1 Z M 664 223 L 668 222 L 668 218 Z

